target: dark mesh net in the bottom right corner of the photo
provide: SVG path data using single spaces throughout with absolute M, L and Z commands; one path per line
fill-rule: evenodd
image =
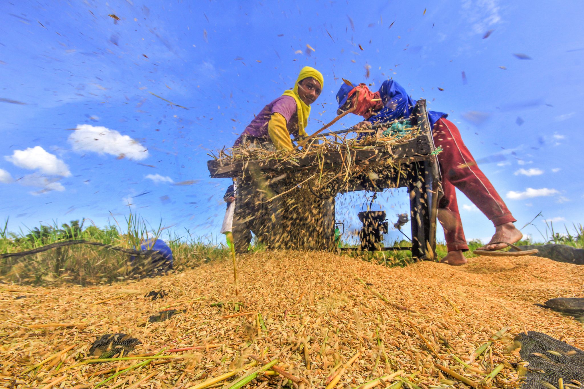
M 564 387 L 584 389 L 584 351 L 536 331 L 522 332 L 515 342 L 521 346 L 521 358 L 529 362 L 522 388 L 559 388 L 562 378 Z

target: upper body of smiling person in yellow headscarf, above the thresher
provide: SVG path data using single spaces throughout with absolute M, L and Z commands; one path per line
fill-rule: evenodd
M 292 90 L 267 104 L 233 145 L 293 150 L 290 135 L 306 136 L 310 104 L 322 92 L 324 79 L 317 69 L 304 66 Z

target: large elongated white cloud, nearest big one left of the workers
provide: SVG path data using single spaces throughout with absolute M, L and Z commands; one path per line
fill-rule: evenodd
M 69 143 L 77 151 L 92 151 L 135 160 L 148 157 L 148 150 L 130 136 L 91 124 L 78 124 L 77 129 L 69 135 Z

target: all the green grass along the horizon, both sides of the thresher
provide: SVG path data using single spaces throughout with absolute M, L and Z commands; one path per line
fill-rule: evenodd
M 539 213 L 538 217 L 543 218 Z M 113 218 L 113 217 L 112 217 Z M 535 220 L 534 219 L 534 220 Z M 61 224 L 56 221 L 53 225 L 40 225 L 33 229 L 20 229 L 19 232 L 8 232 L 8 220 L 4 226 L 0 225 L 0 254 L 18 253 L 33 248 L 46 246 L 47 244 L 75 240 L 97 241 L 104 244 L 123 248 L 138 247 L 142 239 L 161 238 L 171 247 L 174 261 L 174 272 L 180 272 L 188 268 L 198 267 L 211 261 L 229 260 L 227 245 L 223 243 L 224 236 L 209 239 L 193 237 L 189 230 L 183 234 L 171 234 L 169 230 L 158 226 L 149 225 L 144 219 L 135 213 L 130 213 L 124 222 L 119 223 L 113 218 L 114 223 L 105 227 L 86 225 L 84 220 L 72 220 Z M 533 220 L 531 220 L 533 222 Z M 533 225 L 532 223 L 527 225 Z M 534 227 L 537 226 L 533 225 Z M 557 243 L 567 244 L 576 248 L 584 248 L 584 226 L 573 224 L 572 229 L 564 226 L 565 233 L 559 232 L 553 223 L 546 223 L 545 230 L 538 229 L 543 238 L 542 241 L 534 241 L 531 237 L 519 241 L 523 244 Z M 218 239 L 219 238 L 219 239 Z M 219 241 L 220 240 L 220 241 Z M 475 257 L 472 251 L 483 245 L 478 240 L 470 241 L 470 250 L 465 253 L 467 258 Z M 347 243 L 342 243 L 348 247 Z M 391 246 L 410 246 L 409 241 L 395 241 Z M 265 251 L 266 248 L 257 241 L 253 241 L 251 252 Z M 404 267 L 412 264 L 410 251 L 377 251 L 360 252 L 349 251 L 347 254 L 368 262 L 384 264 L 388 267 Z M 446 245 L 439 243 L 436 246 L 437 258 L 447 254 Z M 0 259 L 0 281 L 7 283 L 20 283 L 23 285 L 99 285 L 132 279 L 128 254 L 105 248 L 78 244 L 75 246 L 54 248 L 43 253 L 31 254 L 26 257 L 12 257 Z

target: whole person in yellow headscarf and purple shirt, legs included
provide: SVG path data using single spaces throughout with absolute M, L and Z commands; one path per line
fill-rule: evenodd
M 310 115 L 310 104 L 317 100 L 324 86 L 324 78 L 317 69 L 304 66 L 298 74 L 293 89 L 288 89 L 277 99 L 266 104 L 251 123 L 244 129 L 233 145 L 233 153 L 237 155 L 241 149 L 262 148 L 270 151 L 294 150 L 290 136 L 300 138 L 307 136 L 305 128 Z M 240 186 L 241 188 L 241 186 Z M 244 188 L 241 188 L 244 190 Z M 266 206 L 269 218 L 275 220 L 268 231 L 260 218 L 262 206 L 257 204 L 258 194 L 255 191 L 245 191 L 244 204 L 234 212 L 232 234 L 237 253 L 245 253 L 251 243 L 252 232 L 261 240 L 262 235 L 279 234 L 280 223 L 278 199 Z M 234 206 L 235 208 L 235 206 Z

